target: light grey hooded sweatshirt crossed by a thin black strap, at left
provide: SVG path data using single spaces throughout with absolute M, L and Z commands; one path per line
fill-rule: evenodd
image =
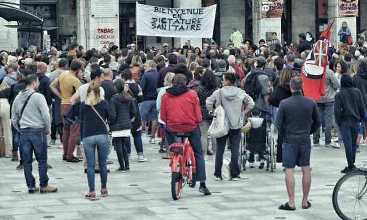
M 41 128 L 48 131 L 50 129 L 50 110 L 45 97 L 38 92 L 30 97 L 21 118 L 23 105 L 32 92 L 34 92 L 33 89 L 23 90 L 15 97 L 11 108 L 11 121 L 18 131 L 23 128 Z

